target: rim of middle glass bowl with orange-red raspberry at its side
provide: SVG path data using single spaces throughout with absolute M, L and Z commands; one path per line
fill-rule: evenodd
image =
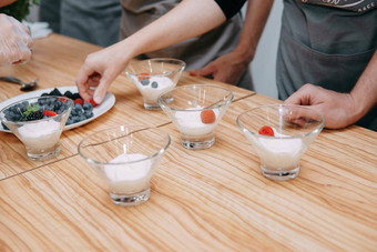
M 202 109 L 190 109 L 190 110 L 175 109 L 175 108 L 169 107 L 169 105 L 166 105 L 165 103 L 162 102 L 162 97 L 165 95 L 166 93 L 173 92 L 177 89 L 187 89 L 187 88 L 195 88 L 195 87 L 206 87 L 206 88 L 222 89 L 224 91 L 227 91 L 227 94 L 223 99 L 225 99 L 225 98 L 228 98 L 228 99 L 226 101 L 218 100 L 217 102 L 214 103 L 214 104 L 220 103 L 217 105 L 205 107 L 205 109 L 202 108 Z M 223 87 L 218 87 L 218 85 L 215 85 L 215 84 L 185 84 L 185 85 L 175 87 L 172 90 L 169 90 L 166 92 L 161 93 L 157 98 L 157 103 L 160 104 L 161 108 L 169 108 L 172 111 L 197 112 L 197 111 L 213 110 L 213 109 L 218 109 L 221 107 L 225 107 L 225 105 L 230 104 L 233 101 L 233 99 L 234 99 L 234 93 L 232 92 L 232 90 L 223 88 Z

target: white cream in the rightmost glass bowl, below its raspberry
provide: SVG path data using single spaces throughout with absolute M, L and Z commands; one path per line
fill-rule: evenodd
M 287 137 L 279 134 L 274 129 L 275 137 Z M 258 138 L 251 133 L 247 139 L 254 144 L 259 154 L 262 164 L 268 170 L 292 170 L 298 165 L 299 158 L 304 151 L 303 141 L 298 138 Z

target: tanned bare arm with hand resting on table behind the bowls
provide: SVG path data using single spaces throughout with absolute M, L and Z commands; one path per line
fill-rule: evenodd
M 257 44 L 266 24 L 274 0 L 248 0 L 247 12 L 237 47 L 201 70 L 190 71 L 193 75 L 210 75 L 214 80 L 236 84 L 254 59 Z

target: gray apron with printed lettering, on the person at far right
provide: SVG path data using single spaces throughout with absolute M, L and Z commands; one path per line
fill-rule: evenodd
M 279 99 L 305 83 L 350 92 L 377 49 L 374 2 L 284 1 L 276 62 Z M 377 131 L 377 107 L 356 124 Z

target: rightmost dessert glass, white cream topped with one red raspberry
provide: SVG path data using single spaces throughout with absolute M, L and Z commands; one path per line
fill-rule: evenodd
M 296 178 L 302 155 L 325 127 L 323 114 L 309 107 L 284 104 L 251 109 L 236 122 L 272 180 Z

